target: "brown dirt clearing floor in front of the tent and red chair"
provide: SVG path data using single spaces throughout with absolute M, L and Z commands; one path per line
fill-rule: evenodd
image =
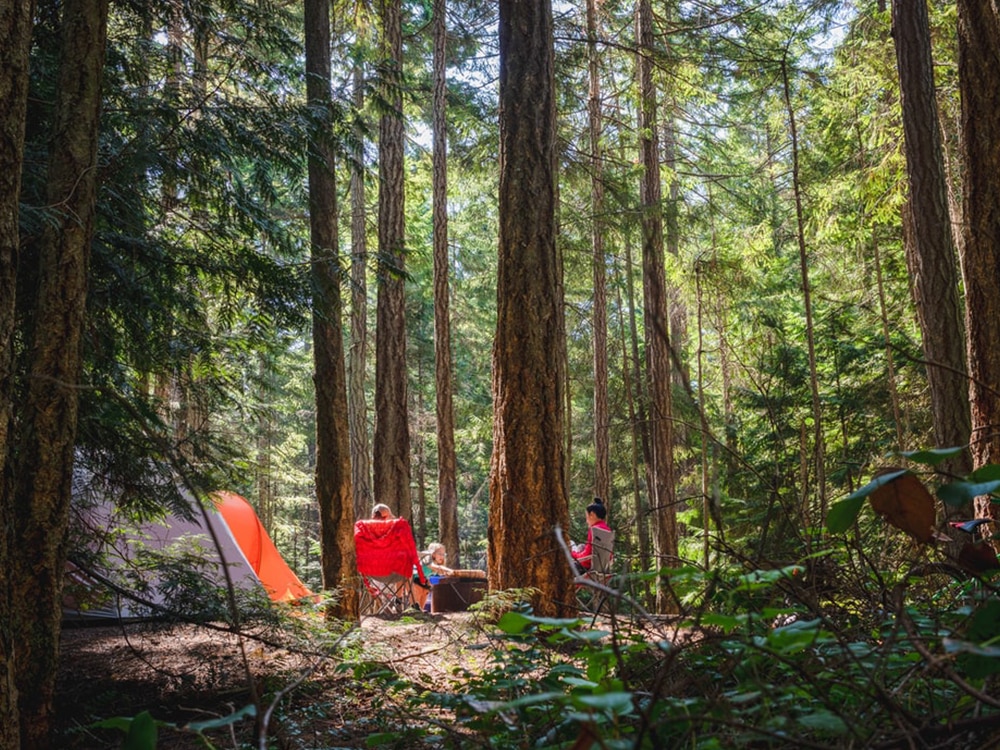
M 360 629 L 329 651 L 434 688 L 482 659 L 477 640 L 483 639 L 469 613 L 414 613 L 364 618 Z M 388 696 L 368 693 L 373 688 L 341 669 L 342 663 L 252 639 L 241 648 L 232 634 L 192 625 L 69 628 L 57 688 L 57 744 L 67 750 L 121 747 L 123 730 L 95 723 L 142 711 L 177 726 L 231 715 L 252 702 L 249 670 L 259 694 L 282 695 L 268 716 L 272 747 L 366 747 L 371 735 L 391 730 L 386 711 L 392 707 Z M 206 736 L 214 747 L 236 748 L 252 741 L 253 720 Z M 162 724 L 158 741 L 159 748 L 205 747 L 194 733 Z

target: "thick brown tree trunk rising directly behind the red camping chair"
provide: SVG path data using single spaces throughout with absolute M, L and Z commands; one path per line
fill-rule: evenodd
M 400 0 L 382 0 L 387 103 L 379 119 L 378 303 L 375 321 L 375 501 L 411 519 L 406 398 L 406 240 L 403 204 L 403 30 Z

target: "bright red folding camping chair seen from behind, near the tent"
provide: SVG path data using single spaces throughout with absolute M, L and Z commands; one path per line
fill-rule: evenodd
M 365 519 L 354 524 L 361 576 L 362 615 L 399 615 L 413 603 L 413 571 L 427 585 L 413 530 L 405 518 Z

